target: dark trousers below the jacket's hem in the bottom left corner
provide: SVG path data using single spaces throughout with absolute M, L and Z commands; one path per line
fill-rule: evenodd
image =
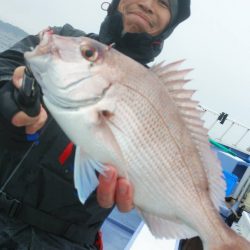
M 43 232 L 21 221 L 0 214 L 1 250 L 97 250 L 93 245 L 78 245 Z

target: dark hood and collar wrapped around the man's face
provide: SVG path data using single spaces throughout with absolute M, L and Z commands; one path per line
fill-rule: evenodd
M 99 40 L 105 44 L 115 43 L 115 48 L 134 60 L 147 64 L 158 56 L 164 40 L 182 21 L 190 16 L 190 0 L 169 0 L 171 20 L 157 36 L 147 33 L 123 33 L 122 14 L 117 10 L 120 0 L 113 0 L 108 14 L 101 24 Z

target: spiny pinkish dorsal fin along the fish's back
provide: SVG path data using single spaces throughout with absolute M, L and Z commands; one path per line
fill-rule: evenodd
M 182 62 L 183 60 L 180 60 L 168 65 L 160 63 L 152 67 L 151 71 L 161 79 L 166 91 L 179 109 L 207 173 L 210 197 L 216 208 L 219 209 L 219 205 L 225 196 L 225 181 L 222 178 L 222 169 L 215 153 L 210 149 L 208 130 L 203 126 L 204 122 L 201 119 L 199 103 L 191 99 L 195 91 L 184 89 L 185 84 L 189 81 L 185 77 L 191 69 L 180 70 L 179 67 Z

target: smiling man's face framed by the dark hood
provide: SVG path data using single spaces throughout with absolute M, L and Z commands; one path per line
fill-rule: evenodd
M 169 24 L 168 0 L 121 0 L 118 11 L 123 16 L 124 30 L 159 35 Z

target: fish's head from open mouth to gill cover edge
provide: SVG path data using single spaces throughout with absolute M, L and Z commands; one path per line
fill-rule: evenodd
M 87 37 L 63 37 L 50 30 L 25 60 L 43 95 L 62 108 L 79 108 L 101 100 L 115 81 L 110 46 Z M 112 60 L 112 64 L 115 64 Z

